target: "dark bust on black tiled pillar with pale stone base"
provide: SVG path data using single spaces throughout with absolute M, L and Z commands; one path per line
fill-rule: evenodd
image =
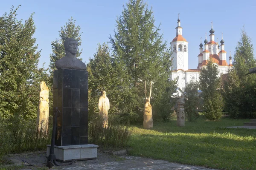
M 64 47 L 66 55 L 55 62 L 53 73 L 53 109 L 60 111 L 54 152 L 61 161 L 96 159 L 98 146 L 88 144 L 88 72 L 76 58 L 77 41 L 67 38 Z

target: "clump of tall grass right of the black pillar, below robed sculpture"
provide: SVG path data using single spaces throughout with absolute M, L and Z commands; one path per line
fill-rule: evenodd
M 103 127 L 103 119 L 99 115 L 93 115 L 88 122 L 88 138 L 92 144 L 98 144 L 103 148 L 122 148 L 130 139 L 132 127 L 128 122 L 120 119 L 108 118 L 108 126 Z

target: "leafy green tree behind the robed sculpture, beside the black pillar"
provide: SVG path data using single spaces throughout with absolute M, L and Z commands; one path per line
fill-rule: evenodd
M 106 91 L 110 102 L 108 113 L 117 113 L 121 98 L 121 81 L 118 69 L 113 67 L 108 45 L 98 44 L 96 54 L 87 64 L 89 84 L 89 114 L 99 113 L 98 102 L 102 91 Z

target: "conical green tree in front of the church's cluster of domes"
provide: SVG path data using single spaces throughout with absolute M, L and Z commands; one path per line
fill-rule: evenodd
M 222 116 L 223 99 L 220 93 L 220 78 L 217 65 L 210 57 L 207 65 L 200 72 L 200 87 L 204 97 L 204 114 L 209 120 Z

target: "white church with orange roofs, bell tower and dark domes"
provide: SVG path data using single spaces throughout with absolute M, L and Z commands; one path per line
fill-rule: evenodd
M 208 42 L 207 37 L 205 37 L 204 45 L 199 45 L 200 54 L 198 55 L 198 67 L 197 69 L 189 69 L 188 56 L 189 48 L 188 42 L 182 36 L 182 27 L 180 26 L 180 17 L 178 18 L 178 26 L 176 27 L 176 37 L 172 40 L 171 49 L 173 57 L 173 68 L 170 78 L 175 80 L 178 77 L 177 83 L 178 88 L 184 91 L 185 86 L 190 81 L 199 81 L 199 74 L 203 67 L 207 65 L 209 58 L 212 57 L 213 62 L 218 66 L 221 74 L 226 74 L 228 69 L 231 68 L 232 58 L 231 54 L 229 57 L 229 65 L 227 64 L 227 52 L 224 50 L 224 40 L 221 39 L 221 45 L 214 41 L 214 30 L 211 29 L 210 41 Z M 204 48 L 203 48 L 204 46 Z

